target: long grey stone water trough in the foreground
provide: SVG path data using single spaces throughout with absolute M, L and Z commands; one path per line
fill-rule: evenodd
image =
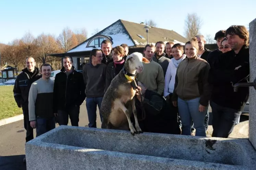
M 245 139 L 60 126 L 26 143 L 27 170 L 255 169 Z

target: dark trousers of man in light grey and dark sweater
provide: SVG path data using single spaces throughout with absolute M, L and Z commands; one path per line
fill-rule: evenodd
M 55 128 L 55 117 L 36 118 L 36 137 Z

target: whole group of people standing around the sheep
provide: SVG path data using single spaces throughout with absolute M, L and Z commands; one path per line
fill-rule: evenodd
M 198 35 L 185 45 L 173 42 L 147 44 L 142 73 L 137 84 L 136 108 L 140 127 L 145 132 L 206 136 L 212 108 L 213 137 L 227 138 L 248 100 L 248 88 L 234 92 L 233 85 L 247 82 L 249 75 L 249 33 L 234 25 L 215 35 L 218 49 L 206 49 L 205 38 Z M 164 51 L 166 53 L 164 53 Z M 122 70 L 129 53 L 127 44 L 112 48 L 103 40 L 101 50 L 93 49 L 83 73 L 75 70 L 72 57 L 63 58 L 63 68 L 50 79 L 51 66 L 35 67 L 34 58 L 26 58 L 26 68 L 17 76 L 14 98 L 24 114 L 26 142 L 59 125 L 78 126 L 80 105 L 86 98 L 89 127 L 96 128 L 96 110 L 100 108 L 111 80 Z M 39 72 L 41 74 L 39 74 Z M 142 105 L 143 104 L 143 108 Z M 143 109 L 146 115 L 143 115 Z M 100 113 L 100 119 L 102 116 Z

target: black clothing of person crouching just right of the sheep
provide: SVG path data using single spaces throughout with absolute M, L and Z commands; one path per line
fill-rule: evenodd
M 140 102 L 136 99 L 138 119 L 142 118 Z M 172 112 L 166 100 L 158 93 L 146 90 L 143 100 L 146 117 L 139 121 L 139 126 L 144 132 L 181 134 L 178 124 L 178 113 Z

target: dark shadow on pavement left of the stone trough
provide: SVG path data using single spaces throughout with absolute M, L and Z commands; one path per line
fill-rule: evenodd
M 26 170 L 26 164 L 23 163 L 25 155 L 0 156 L 1 170 Z

